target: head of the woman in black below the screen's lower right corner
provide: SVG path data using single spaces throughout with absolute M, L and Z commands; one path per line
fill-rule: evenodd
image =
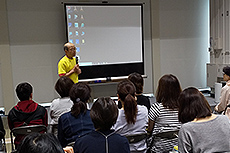
M 136 93 L 141 94 L 143 92 L 143 85 L 144 85 L 144 80 L 141 74 L 136 72 L 131 73 L 128 79 L 135 85 Z

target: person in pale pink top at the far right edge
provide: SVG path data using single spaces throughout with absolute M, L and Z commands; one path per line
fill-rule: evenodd
M 220 102 L 214 108 L 218 113 L 224 111 L 230 104 L 230 67 L 228 66 L 223 68 L 223 79 L 226 81 L 226 85 L 221 89 Z

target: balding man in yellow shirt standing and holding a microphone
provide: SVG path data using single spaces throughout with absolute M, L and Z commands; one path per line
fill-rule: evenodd
M 81 74 L 79 64 L 76 62 L 76 47 L 72 43 L 64 45 L 65 56 L 58 62 L 58 75 L 60 77 L 66 76 L 73 80 L 74 83 L 78 82 L 78 75 Z

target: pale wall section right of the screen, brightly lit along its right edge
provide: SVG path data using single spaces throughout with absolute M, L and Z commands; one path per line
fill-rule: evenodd
M 159 1 L 161 74 L 175 74 L 183 88 L 206 87 L 209 1 Z

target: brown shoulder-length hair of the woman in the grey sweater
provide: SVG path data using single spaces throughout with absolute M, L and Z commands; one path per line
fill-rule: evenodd
M 201 92 L 189 87 L 184 89 L 178 99 L 178 119 L 181 123 L 193 121 L 195 118 L 211 116 L 211 108 Z

